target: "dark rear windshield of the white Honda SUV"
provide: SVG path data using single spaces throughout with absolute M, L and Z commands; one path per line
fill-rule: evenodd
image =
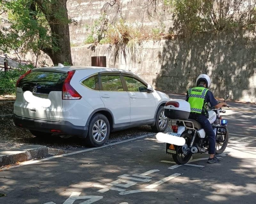
M 49 94 L 51 91 L 62 91 L 67 73 L 32 71 L 20 80 L 17 87 L 22 91 Z

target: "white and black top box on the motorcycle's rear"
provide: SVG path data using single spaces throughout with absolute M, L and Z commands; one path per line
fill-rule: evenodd
M 189 114 L 190 104 L 185 100 L 171 100 L 164 106 L 164 115 L 172 120 L 187 120 Z

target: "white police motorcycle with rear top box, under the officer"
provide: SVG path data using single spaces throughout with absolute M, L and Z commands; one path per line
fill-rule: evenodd
M 228 94 L 224 96 L 224 102 L 228 97 Z M 228 121 L 222 120 L 220 116 L 220 113 L 226 113 L 226 111 L 214 107 L 209 107 L 207 111 L 209 114 L 208 120 L 216 135 L 216 154 L 221 154 L 228 145 Z M 164 114 L 171 119 L 173 132 L 168 134 L 183 137 L 186 141 L 183 146 L 166 143 L 166 153 L 172 154 L 172 158 L 177 164 L 188 163 L 193 154 L 208 153 L 208 136 L 205 135 L 205 131 L 199 122 L 188 119 L 190 104 L 187 101 L 180 99 L 168 101 L 164 106 Z M 175 124 L 173 124 L 173 120 Z

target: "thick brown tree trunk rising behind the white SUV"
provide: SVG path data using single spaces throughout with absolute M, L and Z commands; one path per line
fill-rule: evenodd
M 52 48 L 43 48 L 42 51 L 49 55 L 54 65 L 58 65 L 58 63 L 73 65 L 69 39 L 67 0 L 54 1 L 54 3 L 51 3 L 50 9 L 45 8 L 45 2 L 47 1 L 36 0 L 51 28 Z M 49 13 L 49 10 L 51 13 Z M 61 14 L 61 17 L 57 17 L 56 13 Z

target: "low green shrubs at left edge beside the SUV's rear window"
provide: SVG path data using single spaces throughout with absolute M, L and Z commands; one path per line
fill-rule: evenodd
M 21 75 L 25 74 L 29 69 L 34 69 L 33 65 L 19 66 L 17 69 L 9 69 L 8 71 L 0 71 L 0 89 L 14 89 L 17 80 Z M 14 93 L 15 90 L 0 90 L 0 94 Z

